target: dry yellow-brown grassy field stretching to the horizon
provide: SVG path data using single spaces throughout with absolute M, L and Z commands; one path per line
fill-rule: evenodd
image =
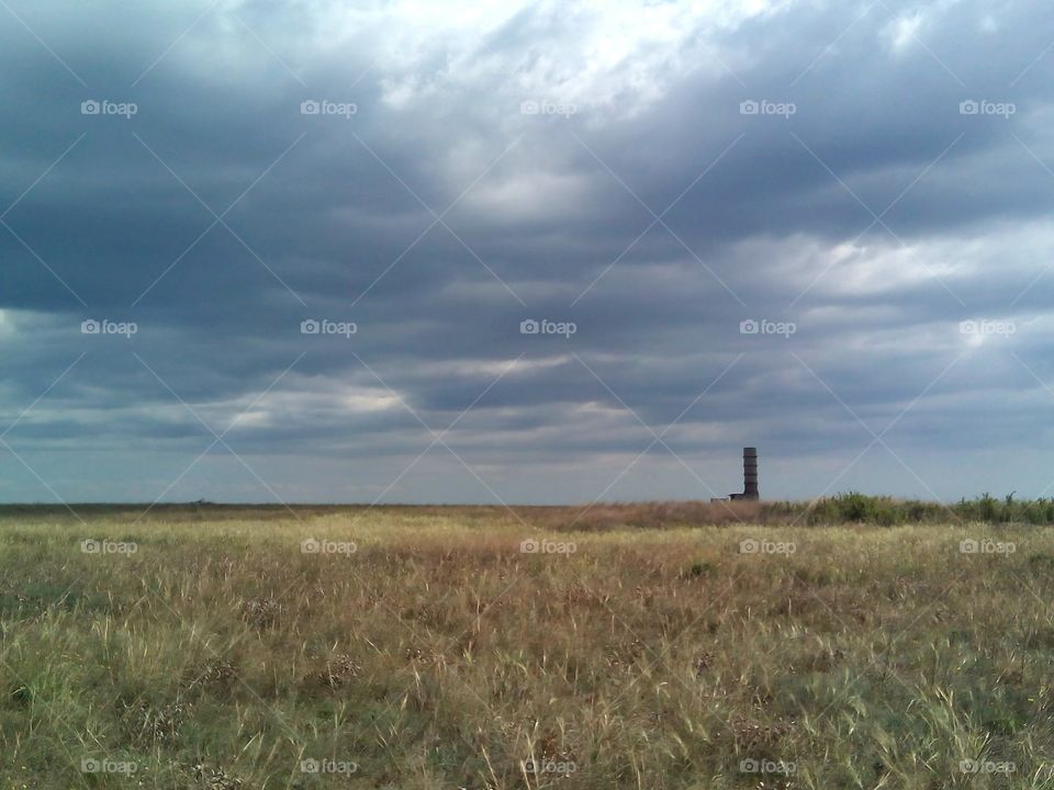
M 1054 787 L 1045 527 L 76 509 L 0 511 L 2 788 Z

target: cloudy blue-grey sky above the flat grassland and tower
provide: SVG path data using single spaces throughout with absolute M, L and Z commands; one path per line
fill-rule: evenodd
M 0 0 L 0 501 L 1054 493 L 1054 5 Z

